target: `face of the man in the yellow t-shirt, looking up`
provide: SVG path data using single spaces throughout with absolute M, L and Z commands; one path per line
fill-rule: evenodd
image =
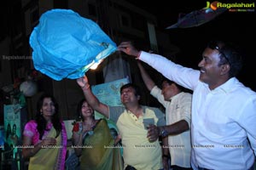
M 135 89 L 134 88 L 124 88 L 121 91 L 121 101 L 122 103 L 128 104 L 128 103 L 137 103 L 139 100 L 139 96 L 135 95 Z

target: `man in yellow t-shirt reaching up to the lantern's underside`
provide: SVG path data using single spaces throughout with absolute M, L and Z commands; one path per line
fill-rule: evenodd
M 158 170 L 166 166 L 158 139 L 148 139 L 148 124 L 166 125 L 164 114 L 157 108 L 139 105 L 140 93 L 137 86 L 128 83 L 120 88 L 124 106 L 102 104 L 92 94 L 87 77 L 77 79 L 84 97 L 91 107 L 116 122 L 123 144 L 124 167 L 137 170 Z M 167 141 L 164 139 L 163 144 Z

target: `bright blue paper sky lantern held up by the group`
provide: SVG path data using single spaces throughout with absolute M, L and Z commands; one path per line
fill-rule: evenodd
M 117 49 L 100 26 L 71 9 L 42 14 L 29 42 L 35 69 L 57 81 L 83 77 L 91 65 Z

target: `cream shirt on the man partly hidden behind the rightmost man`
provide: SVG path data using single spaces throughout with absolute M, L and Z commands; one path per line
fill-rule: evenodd
M 173 96 L 172 102 L 166 101 L 161 94 L 160 88 L 154 86 L 150 91 L 158 101 L 166 108 L 166 125 L 171 125 L 175 122 L 184 120 L 188 122 L 190 128 L 191 122 L 191 101 L 192 95 L 181 92 Z M 172 165 L 179 167 L 191 167 L 191 141 L 190 130 L 168 136 L 168 147 L 170 150 Z

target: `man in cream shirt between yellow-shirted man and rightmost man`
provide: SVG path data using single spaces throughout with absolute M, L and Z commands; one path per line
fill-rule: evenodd
M 162 89 L 158 88 L 143 65 L 140 62 L 137 65 L 150 94 L 166 108 L 167 126 L 160 127 L 160 136 L 168 138 L 168 145 L 163 146 L 163 159 L 168 158 L 170 151 L 172 170 L 191 169 L 190 122 L 192 95 L 183 92 L 183 87 L 166 78 L 162 81 Z M 156 133 L 156 135 L 159 135 L 159 133 Z

